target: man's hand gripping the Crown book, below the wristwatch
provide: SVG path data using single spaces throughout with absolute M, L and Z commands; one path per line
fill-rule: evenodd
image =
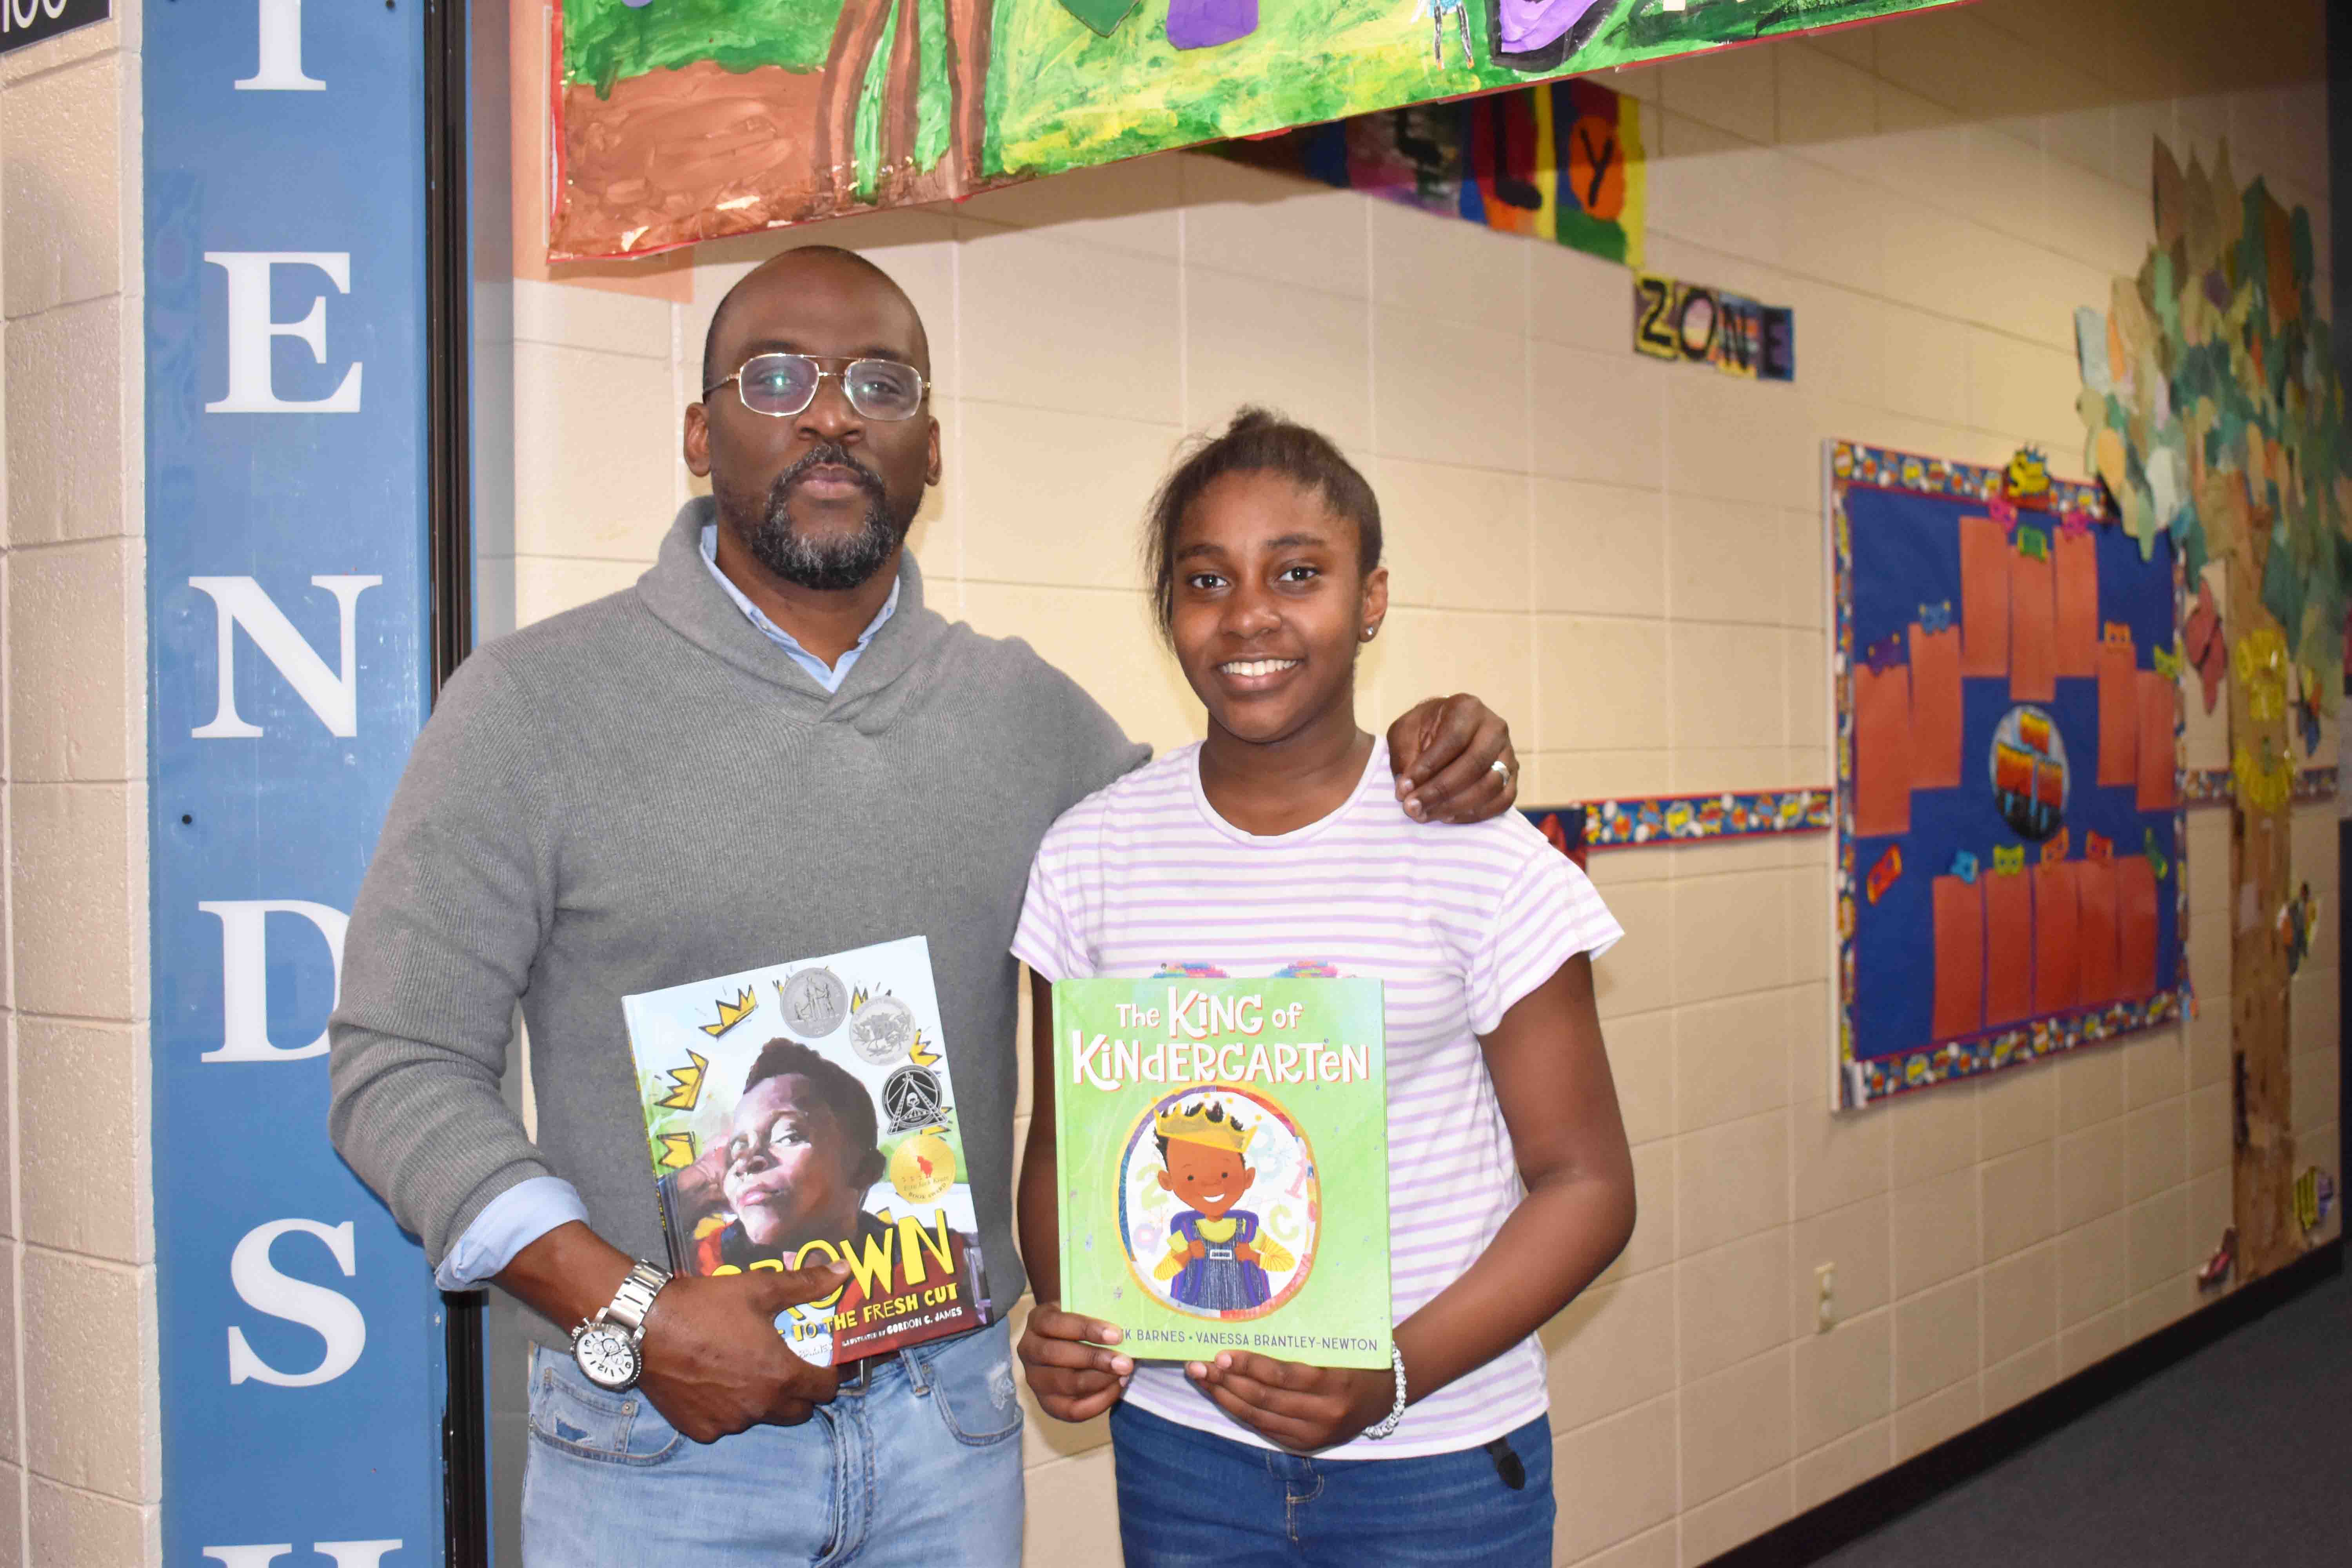
M 762 1422 L 797 1427 L 833 1399 L 840 1375 L 795 1356 L 776 1333 L 776 1314 L 833 1295 L 847 1281 L 849 1269 L 840 1262 L 722 1279 L 680 1274 L 644 1319 L 637 1387 L 696 1443 Z

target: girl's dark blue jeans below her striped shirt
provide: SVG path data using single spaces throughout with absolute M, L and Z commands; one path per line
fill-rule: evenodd
M 1127 1568 L 1550 1568 L 1550 1422 L 1503 1441 L 1526 1469 L 1517 1490 L 1484 1448 L 1317 1460 L 1110 1406 Z

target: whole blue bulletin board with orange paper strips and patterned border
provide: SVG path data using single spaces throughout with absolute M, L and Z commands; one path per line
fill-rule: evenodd
M 1832 442 L 1837 1095 L 2176 1020 L 2180 571 L 2037 456 Z

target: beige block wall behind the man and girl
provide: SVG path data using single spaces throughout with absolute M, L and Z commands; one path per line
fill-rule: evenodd
M 931 329 L 931 602 L 1023 635 L 1160 745 L 1197 710 L 1134 564 L 1141 501 L 1242 400 L 1334 433 L 1390 510 L 1364 717 L 1470 689 L 1526 799 L 1830 778 L 1820 440 L 2079 470 L 2072 310 L 2147 247 L 2150 141 L 2267 174 L 2326 266 L 2317 5 L 1987 0 L 1623 73 L 1653 270 L 1797 308 L 1795 386 L 1630 353 L 1588 256 L 1178 155 L 856 219 Z M 2317 66 L 2310 66 L 2317 68 Z M 670 508 L 717 296 L 517 284 L 520 621 L 626 585 Z M 2326 299 L 2326 284 L 2321 284 Z M 2194 705 L 2192 705 L 2194 708 Z M 2192 766 L 2223 764 L 2194 715 Z M 2333 750 L 2333 736 L 2326 750 Z M 2336 952 L 2333 804 L 2296 818 Z M 2185 1030 L 1832 1117 L 1828 844 L 1595 860 L 1642 1222 L 1543 1335 L 1562 1563 L 1700 1563 L 2197 1305 L 2230 1218 L 2227 823 L 2190 832 Z M 2296 1126 L 2336 1168 L 2336 971 L 2296 983 Z M 1813 1331 L 1816 1267 L 1839 1324 Z M 1112 1561 L 1101 1425 L 1035 1420 L 1030 1561 Z

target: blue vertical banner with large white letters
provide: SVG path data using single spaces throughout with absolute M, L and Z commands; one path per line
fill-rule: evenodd
M 162 1552 L 442 1559 L 442 1302 L 327 1143 L 428 703 L 423 9 L 146 12 Z

